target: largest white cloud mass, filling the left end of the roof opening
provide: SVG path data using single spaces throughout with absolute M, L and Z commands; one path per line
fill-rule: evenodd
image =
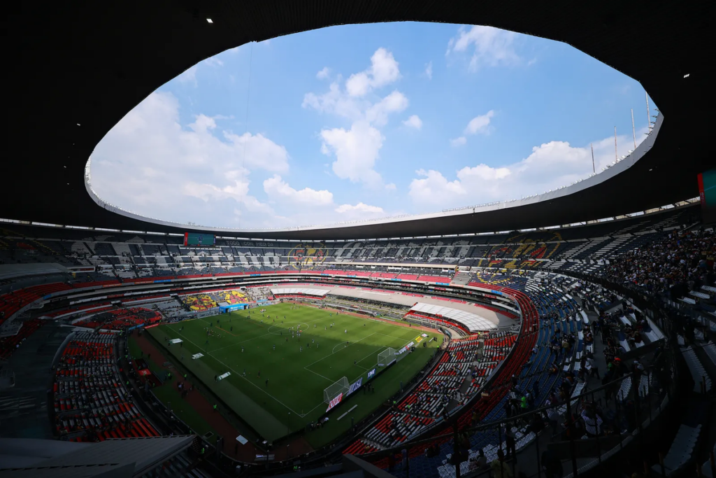
M 263 135 L 223 131 L 206 115 L 183 127 L 179 108 L 173 95 L 155 92 L 122 118 L 92 153 L 95 191 L 168 221 L 237 226 L 236 209 L 252 226 L 275 225 L 271 207 L 249 193 L 250 176 L 287 171 L 286 149 Z

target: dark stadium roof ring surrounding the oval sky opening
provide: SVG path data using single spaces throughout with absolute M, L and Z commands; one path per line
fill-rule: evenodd
M 571 44 L 642 83 L 661 112 L 658 135 L 606 173 L 527 201 L 375 224 L 221 229 L 223 234 L 276 239 L 468 234 L 601 219 L 697 196 L 697 173 L 714 165 L 710 134 L 702 130 L 710 124 L 702 98 L 710 97 L 707 85 L 713 84 L 705 61 L 715 56 L 713 2 L 601 1 L 598 7 L 589 2 L 520 3 L 11 4 L 4 25 L 10 47 L 0 217 L 132 231 L 197 229 L 123 216 L 98 205 L 88 193 L 84 166 L 100 139 L 151 92 L 225 49 L 309 29 L 377 21 L 485 24 Z M 637 156 L 639 161 L 631 161 Z

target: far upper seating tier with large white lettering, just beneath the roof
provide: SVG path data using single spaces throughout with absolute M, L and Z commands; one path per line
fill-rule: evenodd
M 680 224 L 692 224 L 695 207 L 599 224 L 443 239 L 395 239 L 357 242 L 301 243 L 218 239 L 216 247 L 184 247 L 182 238 L 145 234 L 97 234 L 97 231 L 42 228 L 12 224 L 1 237 L 4 262 L 60 262 L 94 266 L 95 272 L 74 274 L 74 282 L 178 277 L 229 272 L 266 272 L 281 268 L 322 269 L 382 279 L 449 283 L 455 267 L 553 269 L 595 272 L 603 261 L 642 247 Z M 657 230 L 658 229 L 658 230 Z M 663 231 L 662 231 L 663 229 Z M 95 234 L 95 235 L 88 235 Z M 52 236 L 47 239 L 47 236 Z M 581 242 L 566 242 L 581 239 Z M 415 264 L 415 272 L 379 269 L 364 262 Z M 420 264 L 431 267 L 420 267 Z M 357 270 L 356 267 L 359 269 Z M 360 269 L 362 268 L 362 269 Z

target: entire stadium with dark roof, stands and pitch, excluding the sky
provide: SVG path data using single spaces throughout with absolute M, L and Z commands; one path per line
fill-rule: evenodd
M 708 2 L 11 6 L 0 477 L 713 477 L 716 174 L 693 128 L 712 19 Z M 402 21 L 564 42 L 659 109 L 604 171 L 438 213 L 221 228 L 93 186 L 102 138 L 198 62 Z

